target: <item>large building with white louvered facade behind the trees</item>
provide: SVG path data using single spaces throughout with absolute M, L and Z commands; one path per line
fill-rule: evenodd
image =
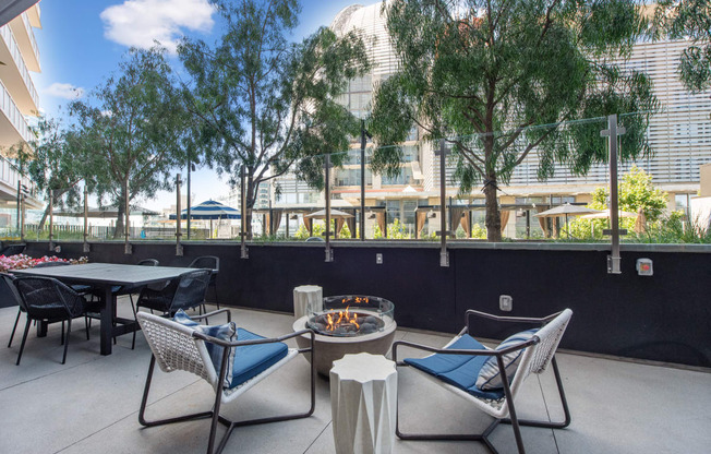
M 357 29 L 369 46 L 372 71 L 352 80 L 347 93 L 340 98 L 340 103 L 359 118 L 366 117 L 369 112 L 374 86 L 397 70 L 397 58 L 389 41 L 385 17 L 381 12 L 382 3 L 347 7 L 330 25 L 337 34 Z M 686 46 L 688 43 L 684 40 L 639 43 L 635 46 L 631 58 L 625 63 L 651 76 L 661 110 L 652 118 L 647 131 L 652 155 L 637 163 L 627 163 L 620 166 L 619 171 L 624 172 L 637 165 L 651 174 L 654 184 L 670 193 L 668 206 L 672 210 L 689 206 L 689 196 L 699 189 L 699 167 L 711 163 L 711 98 L 708 93 L 688 92 L 679 82 L 676 72 L 678 57 Z M 600 121 L 600 126 L 603 129 L 605 123 Z M 419 139 L 419 131 L 413 129 L 408 141 L 402 144 L 403 159 L 399 176 L 390 178 L 372 175 L 370 169 L 365 171 L 365 205 L 385 207 L 388 223 L 398 218 L 410 229 L 415 223 L 418 206 L 439 204 L 439 158 L 435 156 L 431 145 Z M 359 147 L 360 143 L 353 143 L 351 152 Z M 608 182 L 607 168 L 603 165 L 593 166 L 583 177 L 574 176 L 567 168 L 557 166 L 555 176 L 546 181 L 538 179 L 538 156 L 531 153 L 516 168 L 509 184 L 499 184 L 499 203 L 514 207 L 509 214 L 515 213 L 504 216 L 507 219 L 507 237 L 521 237 L 534 230 L 541 232 L 538 220 L 533 218 L 531 222 L 531 215 L 535 212 L 516 208 L 517 206 L 589 202 L 590 193 Z M 481 205 L 483 208 L 481 191 L 474 190 L 463 198 L 458 196 L 457 181 L 450 178 L 453 172 L 454 169 L 447 166 L 448 204 Z M 292 203 L 301 202 L 302 199 L 323 200 L 323 195 L 305 196 L 303 190 L 296 195 L 297 184 L 291 181 L 293 177 L 286 180 L 289 183 L 279 182 L 281 195 L 277 206 L 293 206 Z M 334 206 L 359 207 L 360 180 L 360 155 L 350 153 L 345 166 L 333 172 Z M 436 216 L 437 213 L 433 210 L 429 217 L 436 220 Z M 471 216 L 474 223 L 483 224 L 483 210 L 472 211 Z M 438 220 L 430 224 L 429 230 L 439 229 Z

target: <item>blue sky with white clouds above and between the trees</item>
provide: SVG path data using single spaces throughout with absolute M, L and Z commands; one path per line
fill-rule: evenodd
M 300 40 L 350 4 L 373 4 L 373 0 L 302 0 L 300 24 L 292 39 Z M 39 92 L 41 111 L 63 118 L 67 104 L 85 98 L 94 87 L 118 70 L 129 47 L 150 47 L 154 39 L 174 49 L 182 36 L 208 44 L 221 36 L 217 14 L 207 0 L 41 0 L 40 29 L 35 28 L 41 73 L 33 80 Z M 172 56 L 172 67 L 180 62 Z M 178 172 L 179 170 L 176 170 Z M 181 174 L 185 174 L 182 169 Z M 229 193 L 227 178 L 210 169 L 192 176 L 192 203 L 219 199 Z M 174 193 L 161 192 L 142 206 L 161 210 L 176 203 Z

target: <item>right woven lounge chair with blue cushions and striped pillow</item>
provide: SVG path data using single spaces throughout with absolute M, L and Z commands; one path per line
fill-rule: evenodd
M 542 327 L 534 333 L 519 333 L 519 335 L 511 336 L 502 343 L 497 349 L 489 349 L 469 335 L 469 321 L 472 315 L 497 322 L 539 324 Z M 497 316 L 469 310 L 466 314 L 467 326 L 443 348 L 427 347 L 406 340 L 395 342 L 393 344 L 393 359 L 397 366 L 411 367 L 434 383 L 463 397 L 478 409 L 495 418 L 491 426 L 479 434 L 413 434 L 400 431 L 398 415 L 396 422 L 397 435 L 402 440 L 473 440 L 484 443 L 493 453 L 496 453 L 497 451 L 490 442 L 489 435 L 501 422 L 505 422 L 513 426 L 518 452 L 523 453 L 526 451 L 520 426 L 551 429 L 567 427 L 570 423 L 570 411 L 568 410 L 565 392 L 563 391 L 563 381 L 554 355 L 571 315 L 573 311 L 569 309 L 543 319 Z M 433 355 L 398 361 L 398 348 L 405 346 L 430 351 Z M 514 372 L 510 363 L 513 357 L 517 358 L 518 363 L 518 368 Z M 486 366 L 489 358 L 494 359 Z M 550 363 L 553 365 L 565 420 L 551 422 L 518 419 L 515 399 L 523 381 L 531 373 L 543 372 Z M 491 368 L 491 365 L 497 366 L 495 369 L 499 373 L 501 389 L 482 389 L 482 386 L 477 385 L 478 378 L 481 377 L 480 372 L 486 367 Z

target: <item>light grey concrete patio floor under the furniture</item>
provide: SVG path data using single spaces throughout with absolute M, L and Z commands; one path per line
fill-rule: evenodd
M 120 303 L 129 311 L 128 303 Z M 239 326 L 266 336 L 290 332 L 288 314 L 232 310 Z M 149 360 L 141 333 L 118 339 L 113 355 L 98 354 L 98 326 L 86 340 L 75 323 L 67 365 L 61 365 L 60 326 L 46 338 L 31 332 L 22 362 L 15 366 L 20 333 L 7 348 L 16 309 L 0 309 L 0 453 L 202 453 L 207 420 L 142 428 L 137 411 Z M 213 323 L 218 322 L 217 320 Z M 219 321 L 222 322 L 221 320 Z M 604 333 L 601 333 L 604 335 Z M 399 339 L 444 345 L 450 336 L 398 331 Z M 523 428 L 532 453 L 709 453 L 711 452 L 711 373 L 612 359 L 558 354 L 573 414 L 563 430 Z M 297 358 L 234 403 L 224 407 L 232 419 L 298 411 L 309 406 L 309 365 Z M 402 429 L 473 432 L 491 419 L 407 368 L 399 374 Z M 209 385 L 184 372 L 158 371 L 148 418 L 209 409 Z M 562 417 L 550 371 L 531 377 L 517 402 L 520 417 Z M 509 426 L 492 442 L 502 453 L 516 452 Z M 306 419 L 237 429 L 226 453 L 334 453 L 328 382 L 316 382 L 316 410 Z M 477 442 L 396 441 L 396 453 L 486 453 Z

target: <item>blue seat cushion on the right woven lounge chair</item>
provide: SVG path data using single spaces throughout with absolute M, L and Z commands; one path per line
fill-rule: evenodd
M 447 347 L 450 350 L 485 350 L 479 340 L 465 334 Z M 498 401 L 504 397 L 503 390 L 483 391 L 477 387 L 479 371 L 490 356 L 435 354 L 425 358 L 407 358 L 406 363 L 438 378 L 458 389 L 484 399 Z

